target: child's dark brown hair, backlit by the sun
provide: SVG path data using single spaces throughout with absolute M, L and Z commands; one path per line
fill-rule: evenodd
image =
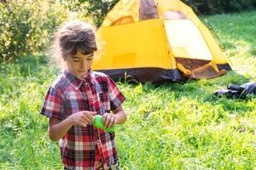
M 63 67 L 67 54 L 93 54 L 97 50 L 95 27 L 81 20 L 68 21 L 55 32 L 50 60 Z

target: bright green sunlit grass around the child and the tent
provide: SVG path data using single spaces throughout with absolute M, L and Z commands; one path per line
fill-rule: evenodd
M 254 169 L 256 98 L 215 98 L 232 82 L 256 81 L 256 11 L 207 17 L 234 71 L 212 80 L 119 82 L 128 120 L 117 129 L 124 169 Z M 0 169 L 61 169 L 58 143 L 39 115 L 57 71 L 43 57 L 0 65 Z

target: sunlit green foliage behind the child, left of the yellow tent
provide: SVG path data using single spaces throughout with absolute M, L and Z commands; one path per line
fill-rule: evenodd
M 0 2 L 0 62 L 49 47 L 56 26 L 73 18 L 102 23 L 114 1 L 25 1 Z

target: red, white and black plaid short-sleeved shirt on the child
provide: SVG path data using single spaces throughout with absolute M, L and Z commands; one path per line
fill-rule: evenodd
M 80 80 L 64 71 L 49 88 L 41 114 L 60 121 L 78 111 L 96 111 L 103 115 L 125 100 L 111 78 L 90 71 Z M 114 133 L 91 124 L 74 125 L 60 140 L 61 159 L 68 169 L 97 169 L 102 161 L 106 169 L 118 160 Z

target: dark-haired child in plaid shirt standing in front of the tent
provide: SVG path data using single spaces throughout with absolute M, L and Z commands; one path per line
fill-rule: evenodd
M 119 169 L 114 133 L 91 122 L 98 114 L 105 127 L 124 123 L 125 96 L 111 78 L 91 70 L 96 49 L 94 29 L 85 22 L 67 22 L 56 32 L 55 52 L 66 70 L 50 86 L 41 114 L 49 117 L 49 138 L 61 139 L 64 169 Z

